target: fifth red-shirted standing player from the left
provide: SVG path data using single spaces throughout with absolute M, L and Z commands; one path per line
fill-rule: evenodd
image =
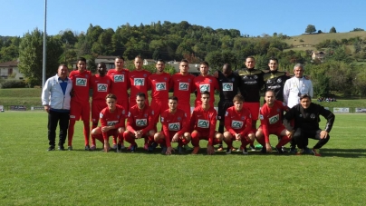
M 170 74 L 165 73 L 165 62 L 159 59 L 155 65 L 156 74 L 151 74 L 148 79 L 149 88 L 151 88 L 151 104 L 150 108 L 154 111 L 155 130 L 156 124 L 159 123 L 159 115 L 168 110 L 167 104 L 169 98 L 169 82 Z

